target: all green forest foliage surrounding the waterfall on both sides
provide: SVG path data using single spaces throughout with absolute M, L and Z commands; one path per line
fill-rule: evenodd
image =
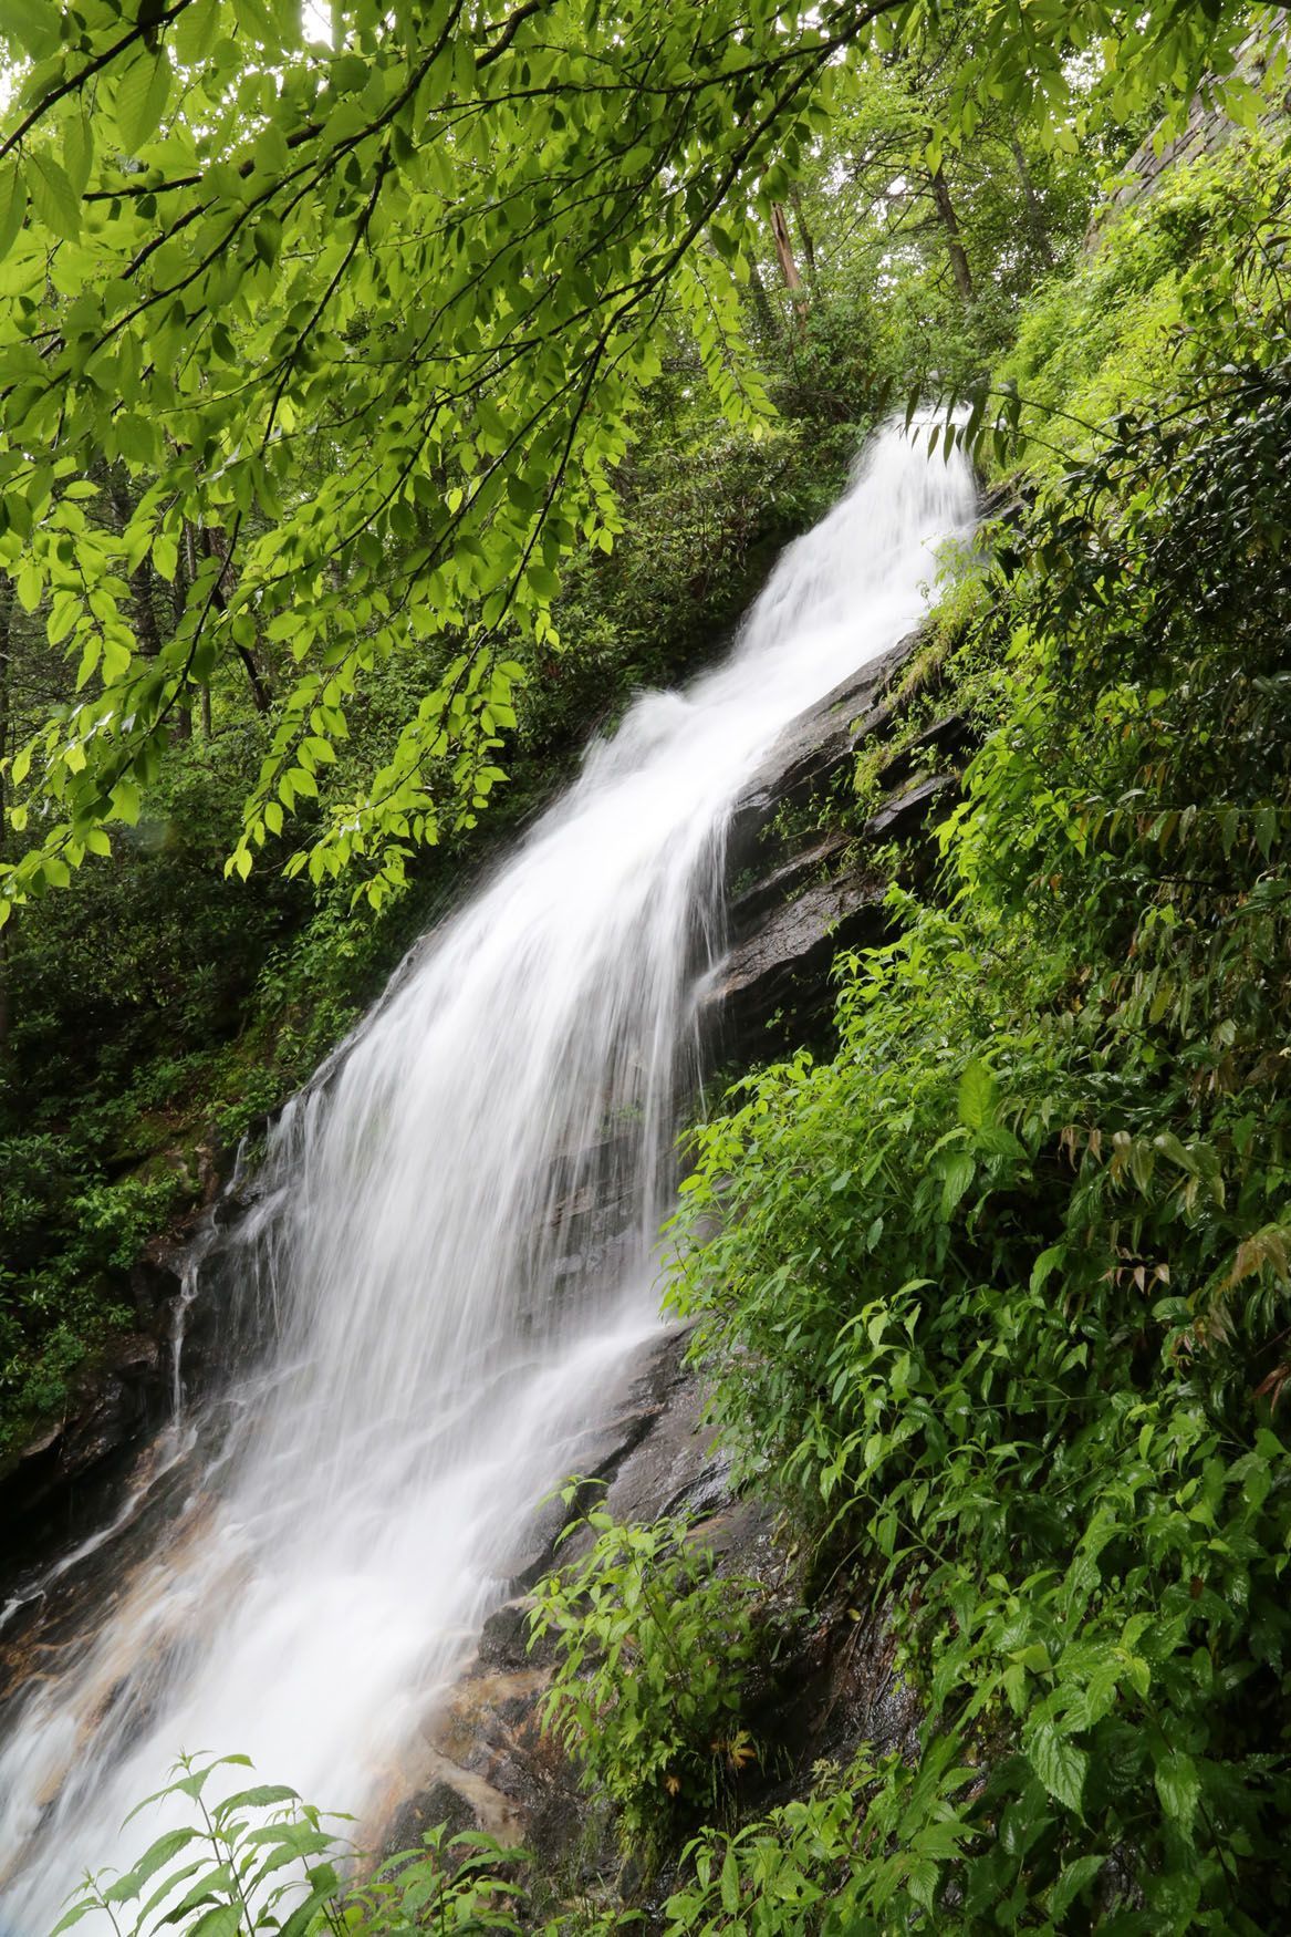
M 552 1722 L 668 1856 L 670 1937 L 1281 1927 L 1281 132 L 1082 246 L 1277 10 L 70 14 L 6 12 L 12 1430 L 192 1197 L 159 1153 L 304 1073 L 484 802 L 505 827 L 695 662 L 888 401 L 945 385 L 1020 498 L 946 600 L 964 802 L 900 938 L 838 965 L 836 1054 L 699 1125 L 672 1286 L 805 1588 L 890 1623 L 919 1753 L 714 1811 L 749 1590 L 608 1521 L 538 1590 Z M 263 1786 L 85 1906 L 161 1916 L 201 1858 L 207 1937 L 544 1925 L 515 1854 L 441 1844 L 354 1894 Z

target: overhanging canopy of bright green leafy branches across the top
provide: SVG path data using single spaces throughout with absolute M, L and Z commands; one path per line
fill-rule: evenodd
M 379 903 L 412 841 L 484 806 L 561 558 L 614 544 L 664 300 L 757 418 L 747 227 L 836 89 L 956 12 L 337 0 L 323 31 L 300 0 L 12 0 L 0 564 L 79 697 L 14 759 L 10 814 L 41 839 L 4 864 L 0 914 L 105 852 L 194 693 L 265 639 L 288 670 L 232 870 L 315 800 L 364 680 L 414 641 L 443 641 L 437 684 L 288 866 L 364 856 Z M 1186 97 L 1246 19 L 979 12 L 929 145 L 970 139 L 991 101 L 1051 112 L 1066 56 L 1099 46 L 1117 99 Z M 105 463 L 139 484 L 124 519 Z M 145 643 L 132 579 L 174 581 L 182 548 L 182 610 Z

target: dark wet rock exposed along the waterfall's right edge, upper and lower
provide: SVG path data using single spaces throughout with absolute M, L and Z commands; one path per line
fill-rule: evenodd
M 956 765 L 970 748 L 962 717 L 935 721 L 879 765 L 881 800 L 859 833 L 840 827 L 832 810 L 861 746 L 883 746 L 898 728 L 890 688 L 916 645 L 902 641 L 796 723 L 736 815 L 732 872 L 745 881 L 730 907 L 730 945 L 701 992 L 708 1040 L 736 1060 L 825 1042 L 836 951 L 888 936 L 894 870 L 881 850 L 898 848 L 906 879 L 929 868 L 931 829 L 958 798 Z M 734 1493 L 683 1335 L 646 1348 L 619 1402 L 588 1431 L 579 1470 L 608 1482 L 604 1499 L 617 1519 L 691 1517 L 718 1565 L 768 1583 L 770 1612 L 786 1617 L 774 1668 L 751 1693 L 747 1724 L 774 1753 L 741 1784 L 749 1813 L 803 1794 L 815 1763 L 842 1765 L 863 1741 L 879 1755 L 916 1753 L 917 1705 L 896 1672 L 885 1610 L 854 1608 L 836 1590 L 809 1619 L 790 1617 L 792 1530 L 778 1528 L 765 1503 Z M 575 1501 L 573 1513 L 586 1505 Z M 486 1621 L 476 1660 L 428 1726 L 428 1772 L 437 1776 L 434 1794 L 447 1784 L 455 1807 L 474 1807 L 482 1827 L 515 1823 L 544 1873 L 577 1871 L 604 1889 L 619 1871 L 610 1827 L 577 1767 L 542 1732 L 550 1643 L 528 1646 L 526 1590 L 586 1546 L 588 1536 L 575 1534 L 557 1555 L 565 1511 L 548 1509 L 532 1550 L 511 1567 L 513 1598 Z

